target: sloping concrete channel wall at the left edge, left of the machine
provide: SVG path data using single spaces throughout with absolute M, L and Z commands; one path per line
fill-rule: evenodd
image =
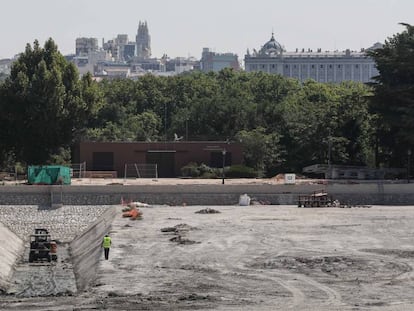
M 0 223 L 0 291 L 7 289 L 14 265 L 23 250 L 23 241 Z

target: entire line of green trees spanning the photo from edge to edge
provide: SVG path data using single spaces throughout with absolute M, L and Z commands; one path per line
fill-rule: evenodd
M 28 44 L 0 85 L 0 162 L 70 161 L 80 141 L 229 140 L 265 176 L 330 163 L 405 167 L 413 143 L 414 30 L 370 53 L 374 83 L 223 69 L 96 82 L 52 39 Z

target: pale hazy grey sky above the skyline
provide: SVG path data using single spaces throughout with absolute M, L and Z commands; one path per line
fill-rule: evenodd
M 154 57 L 201 57 L 203 47 L 224 53 L 259 49 L 275 38 L 288 51 L 360 50 L 414 24 L 413 0 L 1 0 L 0 58 L 52 37 L 63 54 L 77 37 L 99 45 L 117 34 L 135 41 L 147 21 Z

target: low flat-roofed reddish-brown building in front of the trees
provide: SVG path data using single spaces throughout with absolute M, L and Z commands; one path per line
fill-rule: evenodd
M 157 164 L 158 177 L 177 177 L 190 162 L 210 167 L 242 164 L 239 143 L 204 142 L 82 142 L 75 162 L 86 162 L 87 171 L 116 171 L 124 176 L 125 164 Z

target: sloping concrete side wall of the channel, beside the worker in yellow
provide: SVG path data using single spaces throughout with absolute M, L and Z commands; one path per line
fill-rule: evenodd
M 102 238 L 109 232 L 115 214 L 116 208 L 109 208 L 70 243 L 78 291 L 84 290 L 96 277 L 98 261 L 102 256 Z

